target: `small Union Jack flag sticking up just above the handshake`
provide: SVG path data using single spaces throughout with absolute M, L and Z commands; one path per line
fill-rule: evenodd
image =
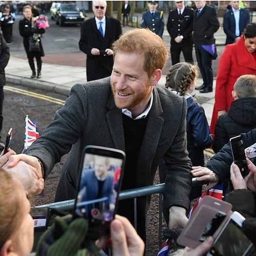
M 34 121 L 29 119 L 28 115 L 25 119 L 25 134 L 24 134 L 24 150 L 25 152 L 29 146 L 39 137 L 37 125 Z

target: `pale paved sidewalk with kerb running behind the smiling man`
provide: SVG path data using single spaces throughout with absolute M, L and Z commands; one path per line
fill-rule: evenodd
M 42 66 L 41 79 L 31 79 L 31 70 L 27 59 L 20 59 L 11 57 L 8 66 L 5 69 L 7 84 L 9 85 L 21 85 L 35 89 L 41 89 L 50 92 L 56 92 L 62 95 L 68 96 L 71 87 L 75 83 L 86 82 L 86 68 L 83 67 L 71 67 L 64 65 L 55 65 L 44 63 Z M 215 91 L 214 80 L 214 91 Z M 164 86 L 165 75 L 163 75 L 159 81 L 159 84 Z M 202 79 L 198 79 L 197 84 L 202 84 Z M 206 117 L 210 124 L 210 118 L 212 108 L 214 104 L 214 92 L 200 94 L 199 91 L 195 91 L 200 98 L 205 98 L 205 103 L 202 104 L 205 109 Z

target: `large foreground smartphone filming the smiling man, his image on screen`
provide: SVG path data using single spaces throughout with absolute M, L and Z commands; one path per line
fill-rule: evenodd
M 88 145 L 80 162 L 80 179 L 74 218 L 89 221 L 88 237 L 110 236 L 121 188 L 125 153 L 114 148 Z

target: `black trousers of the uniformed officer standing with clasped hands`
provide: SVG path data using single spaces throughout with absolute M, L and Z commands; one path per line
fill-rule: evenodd
M 183 53 L 184 59 L 186 62 L 194 63 L 193 56 L 193 44 L 188 46 L 182 46 L 178 44 L 176 41 L 172 41 L 170 43 L 170 56 L 172 58 L 172 64 L 175 65 L 176 63 L 180 62 L 180 53 Z

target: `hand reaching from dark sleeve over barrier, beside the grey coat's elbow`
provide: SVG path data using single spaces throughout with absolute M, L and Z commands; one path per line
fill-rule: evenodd
M 197 181 L 208 181 L 209 185 L 205 187 L 205 191 L 211 189 L 219 182 L 219 177 L 216 173 L 212 172 L 212 170 L 202 167 L 202 166 L 192 166 L 192 170 L 190 171 L 193 177 L 198 177 Z

